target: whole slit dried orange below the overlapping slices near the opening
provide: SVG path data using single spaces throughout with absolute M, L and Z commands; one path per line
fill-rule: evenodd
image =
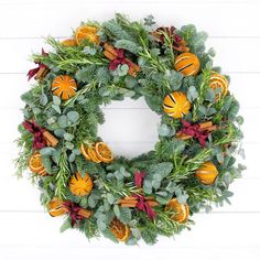
M 71 177 L 69 189 L 76 196 L 85 196 L 93 191 L 93 180 L 88 173 L 82 177 L 80 173 L 77 172 Z

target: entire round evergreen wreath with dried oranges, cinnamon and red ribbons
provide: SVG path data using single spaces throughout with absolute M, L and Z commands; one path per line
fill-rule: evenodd
M 229 202 L 243 170 L 235 159 L 242 118 L 206 37 L 194 25 L 116 14 L 83 23 L 72 39 L 47 37 L 50 51 L 32 56 L 18 173 L 30 169 L 42 205 L 65 216 L 61 230 L 154 243 L 189 228 L 194 213 Z M 113 156 L 97 134 L 100 106 L 124 97 L 143 97 L 161 116 L 154 150 L 134 159 Z

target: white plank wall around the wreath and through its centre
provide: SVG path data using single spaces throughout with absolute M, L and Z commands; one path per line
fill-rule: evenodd
M 26 177 L 18 181 L 13 140 L 22 120 L 20 95 L 29 89 L 28 61 L 44 36 L 66 37 L 87 19 L 106 20 L 115 12 L 132 19 L 153 14 L 161 25 L 195 23 L 209 33 L 216 65 L 231 76 L 230 89 L 241 104 L 248 170 L 231 185 L 232 205 L 197 214 L 192 231 L 156 246 L 126 247 L 108 240 L 88 242 L 77 231 L 59 235 L 62 219 L 39 204 Z M 260 259 L 260 1 L 257 0 L 0 0 L 0 259 Z M 159 118 L 143 100 L 104 108 L 100 134 L 117 154 L 137 155 L 152 148 Z

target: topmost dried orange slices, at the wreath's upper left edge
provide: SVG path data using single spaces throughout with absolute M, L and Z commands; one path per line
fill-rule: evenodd
M 98 29 L 90 25 L 82 25 L 76 29 L 75 40 L 77 44 L 80 44 L 85 39 L 90 43 L 99 44 L 100 39 L 97 35 Z

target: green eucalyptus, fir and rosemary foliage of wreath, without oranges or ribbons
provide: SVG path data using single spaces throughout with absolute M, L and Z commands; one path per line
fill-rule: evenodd
M 213 204 L 230 203 L 229 185 L 241 177 L 245 170 L 236 162 L 236 155 L 243 156 L 239 145 L 243 122 L 238 115 L 239 104 L 230 93 L 223 96 L 220 89 L 209 88 L 212 72 L 220 73 L 220 68 L 213 67 L 215 53 L 212 48 L 206 50 L 206 33 L 198 32 L 194 25 L 185 25 L 176 32 L 201 62 L 198 74 L 186 77 L 174 69 L 180 52 L 173 47 L 173 35 L 162 30 L 163 42 L 160 42 L 152 34 L 156 29 L 153 17 L 132 22 L 116 14 L 115 19 L 101 24 L 91 21 L 87 24 L 98 29 L 100 44 L 85 40 L 77 46 L 65 46 L 48 37 L 46 43 L 52 50 L 48 55 L 32 56 L 34 62 L 46 65 L 50 73 L 22 95 L 24 120 L 34 120 L 44 127 L 58 139 L 58 144 L 40 149 L 47 176 L 33 174 L 31 178 L 39 185 L 44 207 L 53 197 L 59 197 L 91 210 L 89 218 L 78 220 L 74 227 L 67 215 L 61 231 L 76 228 L 88 239 L 102 235 L 117 242 L 110 230 L 110 223 L 117 217 L 131 230 L 127 245 L 137 245 L 140 239 L 153 245 L 159 235 L 174 236 L 192 224 L 191 218 L 184 224 L 174 221 L 172 215 L 175 213 L 165 212 L 165 205 L 173 197 L 181 204 L 187 203 L 191 215 L 202 208 L 208 212 Z M 126 61 L 115 71 L 109 69 L 104 43 L 122 48 L 126 57 L 140 66 L 137 77 L 128 73 L 130 65 Z M 77 91 L 68 100 L 53 96 L 51 86 L 57 75 L 76 79 Z M 226 77 L 229 80 L 228 75 Z M 182 122 L 169 117 L 162 106 L 165 95 L 173 91 L 186 94 L 192 105 L 183 117 L 185 120 L 191 123 L 210 120 L 217 126 L 204 148 L 196 138 L 177 138 Z M 109 164 L 86 160 L 79 148 L 82 143 L 91 145 L 101 141 L 98 137 L 98 126 L 105 122 L 101 106 L 124 97 L 143 97 L 150 109 L 161 116 L 154 150 L 131 160 L 117 156 Z M 22 124 L 19 132 L 17 166 L 21 176 L 28 170 L 34 150 L 33 134 Z M 195 176 L 196 170 L 206 161 L 214 162 L 218 170 L 213 185 L 204 185 Z M 136 171 L 145 173 L 142 187 L 134 183 Z M 69 191 L 69 178 L 75 172 L 82 176 L 90 175 L 94 182 L 90 194 L 79 197 Z M 159 203 L 153 207 L 154 220 L 145 212 L 120 206 L 120 199 L 137 194 L 152 196 Z

